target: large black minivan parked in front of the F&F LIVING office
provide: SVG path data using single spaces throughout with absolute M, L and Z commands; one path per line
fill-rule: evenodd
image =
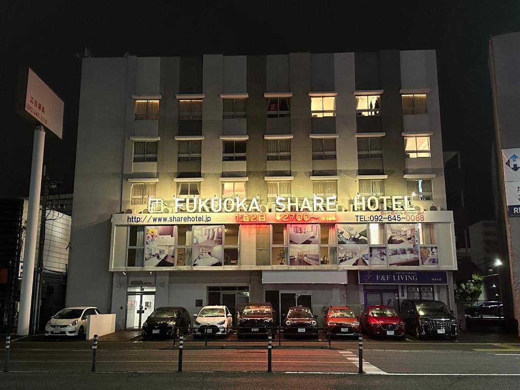
M 457 319 L 444 302 L 404 300 L 401 302 L 401 320 L 405 322 L 406 333 L 418 339 L 441 336 L 456 340 L 459 336 Z

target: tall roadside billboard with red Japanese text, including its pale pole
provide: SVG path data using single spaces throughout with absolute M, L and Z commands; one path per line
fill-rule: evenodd
M 31 297 L 34 277 L 34 257 L 36 255 L 36 231 L 40 211 L 40 191 L 42 185 L 43 152 L 45 130 L 59 138 L 63 132 L 63 100 L 45 84 L 30 68 L 20 71 L 17 108 L 29 121 L 36 124 L 33 139 L 31 181 L 29 185 L 29 207 L 27 210 L 27 230 L 23 253 L 23 274 L 20 290 L 17 334 L 29 334 L 31 318 Z

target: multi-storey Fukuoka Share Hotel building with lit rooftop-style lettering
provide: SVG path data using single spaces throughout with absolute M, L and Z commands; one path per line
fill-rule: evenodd
M 73 215 L 67 304 L 116 329 L 166 305 L 454 307 L 435 51 L 84 58 Z

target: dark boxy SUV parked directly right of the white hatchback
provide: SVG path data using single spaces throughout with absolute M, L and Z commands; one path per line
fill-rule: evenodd
M 244 335 L 274 334 L 275 311 L 270 303 L 248 303 L 239 308 L 237 337 Z

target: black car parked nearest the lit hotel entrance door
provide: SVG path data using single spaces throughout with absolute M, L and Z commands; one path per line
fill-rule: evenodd
M 184 307 L 158 307 L 142 324 L 142 338 L 151 336 L 175 337 L 188 332 L 191 328 L 191 318 Z

